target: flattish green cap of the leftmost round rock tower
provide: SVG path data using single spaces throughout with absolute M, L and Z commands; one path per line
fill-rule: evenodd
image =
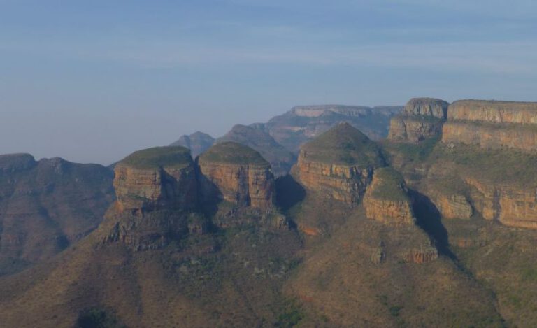
M 133 152 L 119 164 L 136 169 L 182 167 L 192 164 L 192 156 L 190 150 L 182 146 L 153 147 Z

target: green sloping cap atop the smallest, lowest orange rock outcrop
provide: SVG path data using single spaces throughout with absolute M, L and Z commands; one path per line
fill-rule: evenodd
M 382 167 L 375 170 L 373 180 L 379 181 L 375 183 L 372 196 L 380 199 L 388 199 L 392 201 L 408 201 L 408 195 L 403 189 L 405 180 L 401 173 L 395 171 L 391 167 Z

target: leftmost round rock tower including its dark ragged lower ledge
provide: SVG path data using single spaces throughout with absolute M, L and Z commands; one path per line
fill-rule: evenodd
M 106 215 L 103 243 L 120 241 L 134 250 L 161 248 L 189 233 L 203 232 L 196 208 L 196 169 L 180 146 L 139 150 L 115 166 L 117 201 Z M 195 216 L 195 215 L 194 215 Z M 189 225 L 190 224 L 190 225 Z

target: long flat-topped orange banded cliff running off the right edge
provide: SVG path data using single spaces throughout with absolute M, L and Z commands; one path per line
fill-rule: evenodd
M 537 103 L 455 101 L 447 111 L 443 143 L 537 150 Z

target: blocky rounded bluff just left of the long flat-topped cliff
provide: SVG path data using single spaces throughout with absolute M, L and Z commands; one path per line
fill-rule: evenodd
M 401 114 L 390 120 L 389 140 L 418 143 L 439 136 L 447 115 L 447 106 L 449 103 L 441 99 L 410 99 Z

